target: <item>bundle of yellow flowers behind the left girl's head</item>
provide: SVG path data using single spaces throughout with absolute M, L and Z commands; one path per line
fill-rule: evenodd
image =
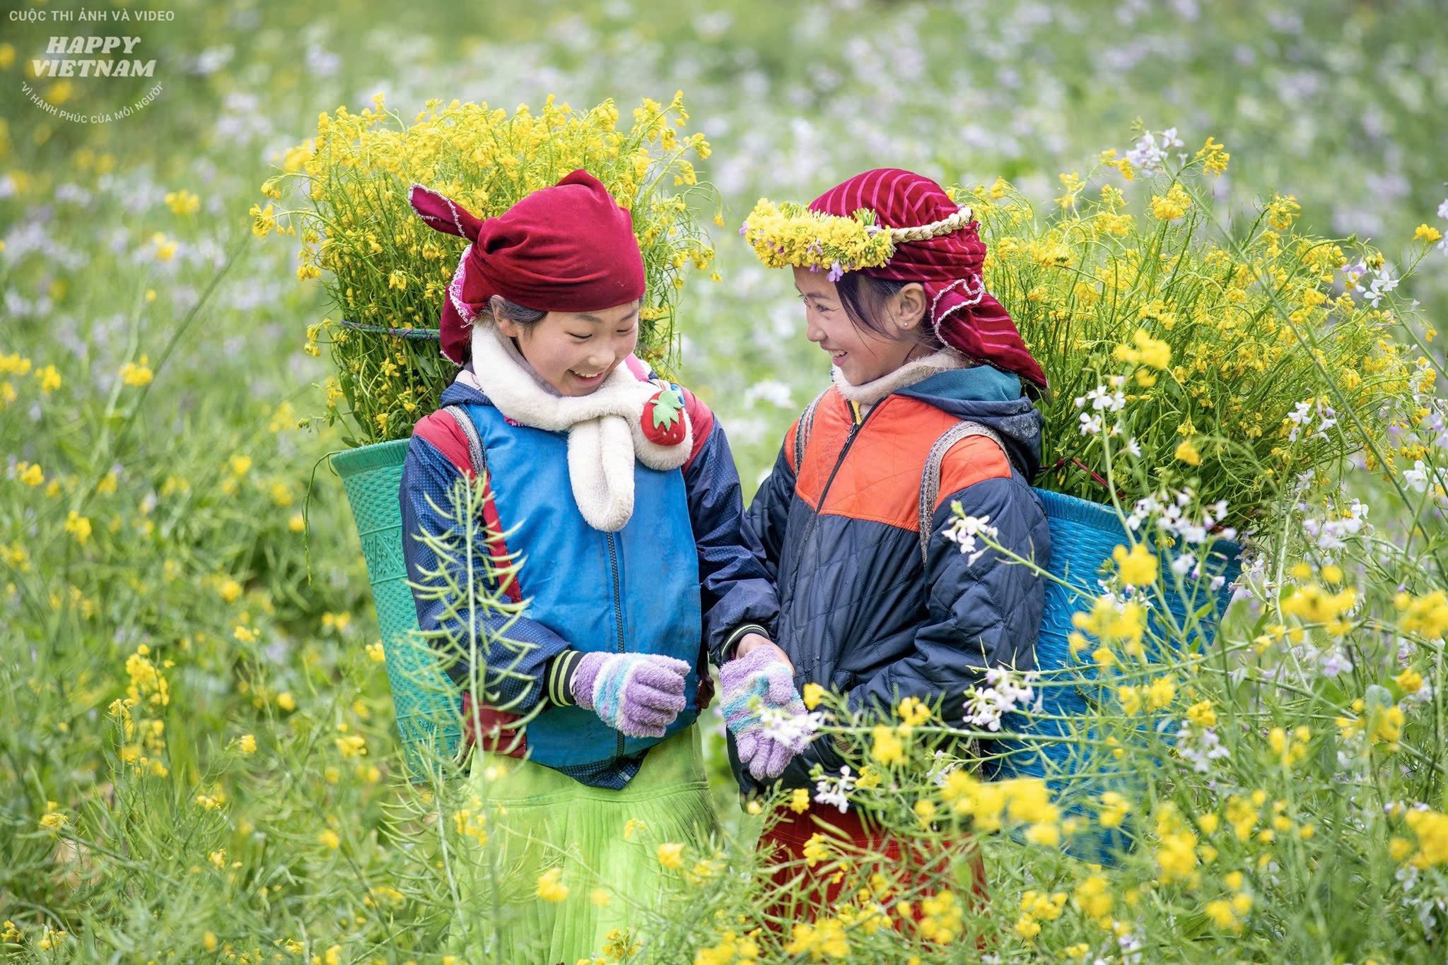
M 633 213 L 643 252 L 639 354 L 670 370 L 685 273 L 714 263 L 694 201 L 717 201 L 688 159 L 708 158 L 710 145 L 702 133 L 685 135 L 686 123 L 682 93 L 668 104 L 646 98 L 624 130 L 611 100 L 579 111 L 552 95 L 537 114 L 527 104 L 508 114 L 430 100 L 407 123 L 381 95 L 361 114 L 323 113 L 316 137 L 292 148 L 262 185 L 271 203 L 251 216 L 259 236 L 301 240 L 297 278 L 321 278 L 334 307 L 336 318 L 307 327 L 306 343 L 311 354 L 326 344 L 337 367 L 326 383 L 327 421 L 350 421 L 349 444 L 405 438 L 452 379 L 433 326 L 466 242 L 416 217 L 407 197 L 414 182 L 488 218 L 578 168 L 597 177 Z M 301 190 L 288 191 L 294 184 Z M 298 207 L 277 210 L 291 197 Z

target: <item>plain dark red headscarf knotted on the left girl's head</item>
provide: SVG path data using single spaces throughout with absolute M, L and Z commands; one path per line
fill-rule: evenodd
M 439 323 L 443 354 L 458 365 L 468 360 L 472 323 L 492 295 L 536 311 L 597 311 L 643 298 L 633 216 L 586 171 L 487 221 L 420 184 L 407 200 L 430 227 L 472 242 Z

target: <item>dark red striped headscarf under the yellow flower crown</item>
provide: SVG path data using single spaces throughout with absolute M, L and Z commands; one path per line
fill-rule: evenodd
M 840 217 L 870 208 L 882 227 L 902 229 L 943 221 L 959 205 L 924 175 L 879 168 L 830 188 L 809 208 Z M 985 256 L 980 224 L 970 221 L 938 237 L 898 242 L 886 265 L 860 271 L 873 278 L 919 282 L 930 298 L 930 321 L 943 343 L 975 362 L 1014 372 L 1045 388 L 1045 373 L 1031 357 L 1011 315 L 986 291 L 980 276 Z

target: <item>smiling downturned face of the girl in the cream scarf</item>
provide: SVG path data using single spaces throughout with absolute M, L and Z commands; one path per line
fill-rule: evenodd
M 560 395 L 588 395 L 639 344 L 639 301 L 598 311 L 550 311 L 518 324 L 498 317 L 498 331 L 515 339 L 533 370 Z

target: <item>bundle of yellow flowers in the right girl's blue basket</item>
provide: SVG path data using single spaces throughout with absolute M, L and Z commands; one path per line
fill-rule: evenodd
M 1053 389 L 1041 401 L 1047 489 L 1129 506 L 1190 488 L 1242 516 L 1352 451 L 1370 469 L 1412 466 L 1392 447 L 1392 418 L 1354 415 L 1432 375 L 1393 340 L 1383 256 L 1297 230 L 1292 197 L 1218 231 L 1200 188 L 1225 166 L 1208 139 L 1156 169 L 1135 213 L 1105 177 L 1090 194 L 1098 174 L 1140 174 L 1115 152 L 1086 178 L 1063 174 L 1050 217 L 1003 179 L 951 188 L 989 243 L 988 288 Z

